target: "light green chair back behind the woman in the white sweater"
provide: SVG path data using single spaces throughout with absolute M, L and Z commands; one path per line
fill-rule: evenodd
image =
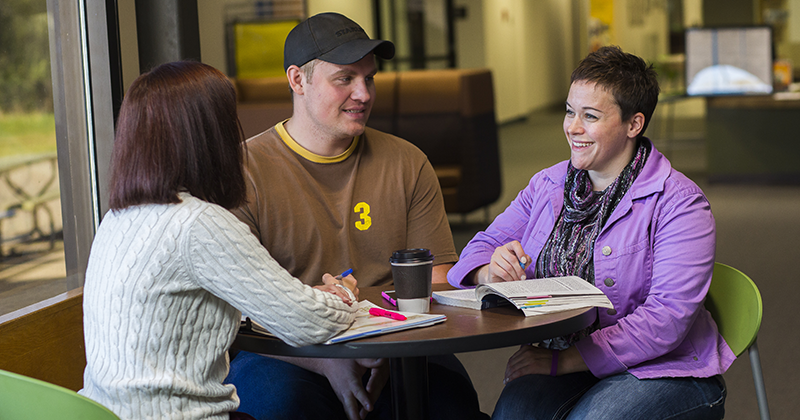
M 0 370 L 0 419 L 119 420 L 119 417 L 67 388 Z

